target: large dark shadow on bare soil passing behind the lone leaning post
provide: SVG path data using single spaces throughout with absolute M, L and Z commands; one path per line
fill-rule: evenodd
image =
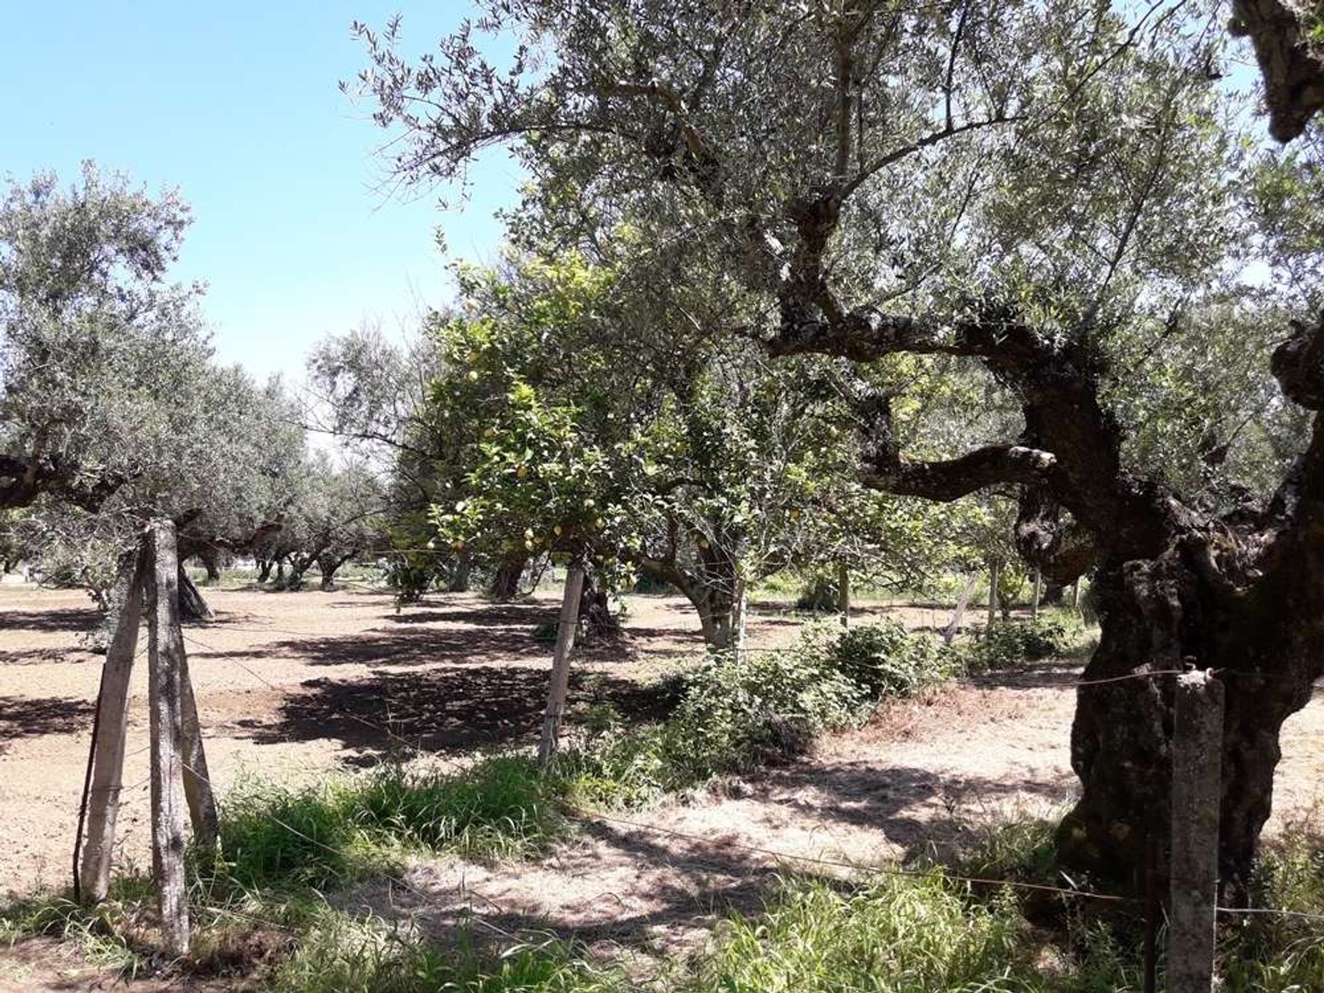
M 515 666 L 437 667 L 413 673 L 373 670 L 364 679 L 311 679 L 281 703 L 271 720 L 241 720 L 258 744 L 336 739 L 371 764 L 416 748 L 463 753 L 538 740 L 547 706 L 548 669 Z M 671 706 L 665 687 L 651 688 L 598 673 L 572 671 L 573 720 L 592 703 L 610 703 L 628 720 L 657 720 Z

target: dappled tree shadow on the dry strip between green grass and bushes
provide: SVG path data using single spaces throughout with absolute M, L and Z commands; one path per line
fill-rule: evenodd
M 982 777 L 944 777 L 906 767 L 796 764 L 753 777 L 740 820 L 720 830 L 685 826 L 685 813 L 585 816 L 581 837 L 559 846 L 518 876 L 499 871 L 424 865 L 410 875 L 412 894 L 395 894 L 392 911 L 418 914 L 442 943 L 454 941 L 467 922 L 486 927 L 474 936 L 504 932 L 523 937 L 547 932 L 594 952 L 667 953 L 692 951 L 712 924 L 732 914 L 757 914 L 788 875 L 813 875 L 839 883 L 857 863 L 850 858 L 801 847 L 779 851 L 759 833 L 759 822 L 782 822 L 808 814 L 874 828 L 879 847 L 898 846 L 900 859 L 945 861 L 972 839 L 969 813 L 945 809 L 922 818 L 916 805 L 948 796 L 988 800 L 1031 793 L 1057 801 L 1058 784 L 1008 782 Z M 805 793 L 814 800 L 805 800 Z M 797 797 L 800 797 L 797 800 Z M 802 812 L 798 802 L 809 804 Z M 834 809 L 839 809 L 839 814 Z M 789 843 L 786 845 L 789 849 Z M 895 850 L 895 849 L 894 849 Z M 796 858 L 793 855 L 808 855 Z M 377 912 L 384 911 L 376 906 Z M 498 939 L 500 940 L 500 939 Z

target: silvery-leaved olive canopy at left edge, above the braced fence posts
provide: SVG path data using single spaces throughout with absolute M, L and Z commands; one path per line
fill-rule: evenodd
M 187 224 L 175 195 L 91 166 L 68 189 L 12 184 L 0 208 L 0 504 L 30 507 L 25 557 L 103 601 L 152 516 L 184 557 L 249 549 L 303 457 L 279 383 L 218 367 L 200 287 L 166 282 Z

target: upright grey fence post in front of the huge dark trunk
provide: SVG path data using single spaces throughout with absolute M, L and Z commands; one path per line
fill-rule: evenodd
M 1222 753 L 1222 683 L 1207 671 L 1177 677 L 1172 737 L 1169 993 L 1209 993 L 1214 982 Z

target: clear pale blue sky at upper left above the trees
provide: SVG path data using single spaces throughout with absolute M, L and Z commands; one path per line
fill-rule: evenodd
M 399 0 L 397 0 L 399 3 Z M 298 376 L 328 331 L 380 319 L 396 332 L 449 294 L 434 232 L 453 257 L 490 260 L 493 211 L 515 201 L 504 156 L 485 163 L 463 214 L 430 193 L 376 192 L 384 132 L 338 89 L 364 68 L 350 23 L 381 26 L 381 0 L 9 0 L 0 32 L 0 173 L 83 159 L 193 208 L 176 277 L 208 283 L 218 356 Z M 414 4 L 410 52 L 466 13 Z

